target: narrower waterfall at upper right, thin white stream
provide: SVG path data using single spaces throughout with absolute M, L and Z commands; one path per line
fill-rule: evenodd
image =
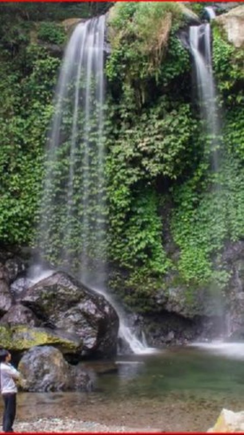
M 208 135 L 212 169 L 219 169 L 219 114 L 216 87 L 212 73 L 211 32 L 209 23 L 190 27 L 190 50 L 193 56 L 198 103 L 204 130 Z

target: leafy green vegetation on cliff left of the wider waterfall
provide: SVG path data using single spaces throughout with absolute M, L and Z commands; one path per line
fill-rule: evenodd
M 22 49 L 20 56 L 23 52 L 22 71 L 14 71 L 8 54 L 0 64 L 0 237 L 19 245 L 30 243 L 34 234 L 60 62 L 35 45 Z

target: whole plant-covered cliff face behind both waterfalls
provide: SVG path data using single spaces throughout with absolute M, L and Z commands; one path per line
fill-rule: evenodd
M 64 16 L 58 23 L 18 18 L 1 28 L 4 244 L 34 244 L 53 89 L 70 24 L 80 20 L 74 16 L 63 24 Z M 244 325 L 243 6 L 211 22 L 222 107 L 216 176 L 190 97 L 191 58 L 178 39 L 192 20 L 192 13 L 164 2 L 118 2 L 108 19 L 108 284 L 137 313 L 153 345 Z M 67 122 L 71 118 L 68 113 Z

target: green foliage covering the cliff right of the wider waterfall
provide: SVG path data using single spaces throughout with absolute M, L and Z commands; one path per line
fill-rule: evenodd
M 191 82 L 190 63 L 186 50 L 180 44 L 177 45 L 175 27 L 169 33 L 167 47 L 158 67 L 150 60 L 151 47 L 153 44 L 157 46 L 156 38 L 154 39 L 157 32 L 152 32 L 154 36 L 148 35 L 144 32 L 145 24 L 141 36 L 135 19 L 137 6 L 128 4 L 123 8 L 120 5 L 117 11 L 120 8 L 124 15 L 111 15 L 112 28 L 117 27 L 118 35 L 114 39 L 110 36 L 114 50 L 107 64 L 108 78 L 111 83 L 116 83 L 113 93 L 115 101 L 120 92 L 115 112 L 117 118 L 114 118 L 115 125 L 119 120 L 119 127 L 109 157 L 110 167 L 114 167 L 110 183 L 113 192 L 109 194 L 111 228 L 113 235 L 116 234 L 111 246 L 114 259 L 120 265 L 127 266 L 127 269 L 132 266 L 133 271 L 123 280 L 123 284 L 117 278 L 113 284 L 116 288 L 123 285 L 125 300 L 129 304 L 135 304 L 137 308 L 140 306 L 144 311 L 150 309 L 145 300 L 149 295 L 153 296 L 158 286 L 167 290 L 166 280 L 162 280 L 162 277 L 163 273 L 170 270 L 176 273 L 178 284 L 184 287 L 188 283 L 189 292 L 210 283 L 212 287 L 224 288 L 228 282 L 228 271 L 221 263 L 221 250 L 227 240 L 238 240 L 244 234 L 241 218 L 244 213 L 241 193 L 243 110 L 240 106 L 243 90 L 243 50 L 235 49 L 226 41 L 220 29 L 214 27 L 213 62 L 220 91 L 217 103 L 220 107 L 219 115 L 222 114 L 223 135 L 219 138 L 222 147 L 220 170 L 218 174 L 213 174 L 211 138 L 202 130 L 197 105 L 192 105 L 187 99 L 187 93 L 190 93 L 190 90 L 187 91 L 188 84 Z M 144 19 L 146 22 L 147 17 Z M 177 19 L 175 22 L 177 23 Z M 155 29 L 158 29 L 157 24 Z M 152 78 L 155 79 L 154 84 Z M 141 89 L 144 99 L 140 96 Z M 156 93 L 161 98 L 156 99 Z M 166 104 L 167 100 L 170 104 Z M 173 101 L 175 112 L 171 106 Z M 186 119 L 183 121 L 182 118 L 171 133 L 162 129 L 167 119 L 170 124 L 174 122 L 173 119 L 180 119 L 187 103 L 189 112 Z M 186 129 L 181 130 L 184 125 Z M 147 135 L 148 129 L 150 133 Z M 181 148 L 182 153 L 180 151 L 178 154 L 177 149 L 179 150 L 184 137 L 184 149 Z M 168 145 L 162 148 L 164 143 Z M 170 173 L 165 171 L 166 166 L 162 163 L 164 159 L 170 158 L 171 151 L 175 155 L 168 166 L 172 170 Z M 147 156 L 148 165 L 144 170 Z M 160 156 L 161 163 L 157 164 Z M 114 165 L 120 169 L 116 171 Z M 149 206 L 149 187 L 159 194 L 154 197 L 154 220 L 156 222 L 157 217 L 161 217 L 161 233 L 160 226 L 153 226 L 152 223 L 144 226 Z M 143 189 L 144 195 L 141 193 Z M 141 195 L 143 200 L 138 206 L 141 210 L 138 218 L 134 206 Z M 171 210 L 170 225 L 165 233 L 167 196 L 171 198 Z M 153 208 L 150 210 L 150 216 L 153 217 Z M 151 237 L 150 228 L 153 227 L 157 228 L 155 239 Z M 163 251 L 158 254 L 158 259 L 161 259 L 159 267 L 153 260 L 152 252 L 156 247 L 156 240 L 160 240 L 159 247 L 166 247 L 165 234 L 168 234 L 167 237 L 171 238 L 171 243 L 174 242 L 175 246 L 173 257 L 172 251 L 169 256 L 165 250 L 164 254 Z M 150 247 L 148 240 L 152 242 Z M 131 249 L 127 250 L 129 245 Z M 140 249 L 136 251 L 137 247 Z M 129 258 L 128 254 L 132 257 Z M 136 263 L 135 259 L 141 261 Z

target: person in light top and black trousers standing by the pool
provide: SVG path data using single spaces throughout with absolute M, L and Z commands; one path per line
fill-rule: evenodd
M 3 431 L 13 432 L 16 413 L 16 380 L 20 373 L 11 364 L 11 353 L 6 349 L 0 350 L 0 386 L 4 399 Z

